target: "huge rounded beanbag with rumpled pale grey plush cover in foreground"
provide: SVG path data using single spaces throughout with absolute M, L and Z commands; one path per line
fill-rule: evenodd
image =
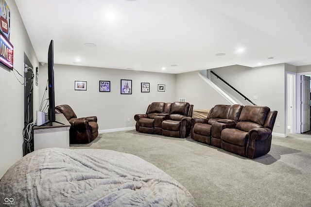
M 196 206 L 181 184 L 137 156 L 60 148 L 18 160 L 0 180 L 0 202 L 27 207 Z

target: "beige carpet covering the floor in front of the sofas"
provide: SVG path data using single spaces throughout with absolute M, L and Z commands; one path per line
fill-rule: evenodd
M 136 155 L 171 175 L 199 207 L 311 207 L 311 135 L 273 137 L 271 151 L 246 159 L 190 139 L 135 130 L 100 134 L 70 148 Z

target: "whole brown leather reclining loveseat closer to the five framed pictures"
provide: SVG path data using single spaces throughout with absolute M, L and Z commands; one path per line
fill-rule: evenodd
M 136 131 L 185 138 L 191 130 L 193 105 L 187 102 L 153 102 L 145 114 L 136 114 Z

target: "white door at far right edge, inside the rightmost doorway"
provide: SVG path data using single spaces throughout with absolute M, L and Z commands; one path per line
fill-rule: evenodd
M 301 133 L 310 130 L 310 77 L 301 76 Z

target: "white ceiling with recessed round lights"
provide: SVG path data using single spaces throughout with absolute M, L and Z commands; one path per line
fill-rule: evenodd
M 173 74 L 311 64 L 311 0 L 15 1 L 39 62 L 52 39 L 55 64 Z

